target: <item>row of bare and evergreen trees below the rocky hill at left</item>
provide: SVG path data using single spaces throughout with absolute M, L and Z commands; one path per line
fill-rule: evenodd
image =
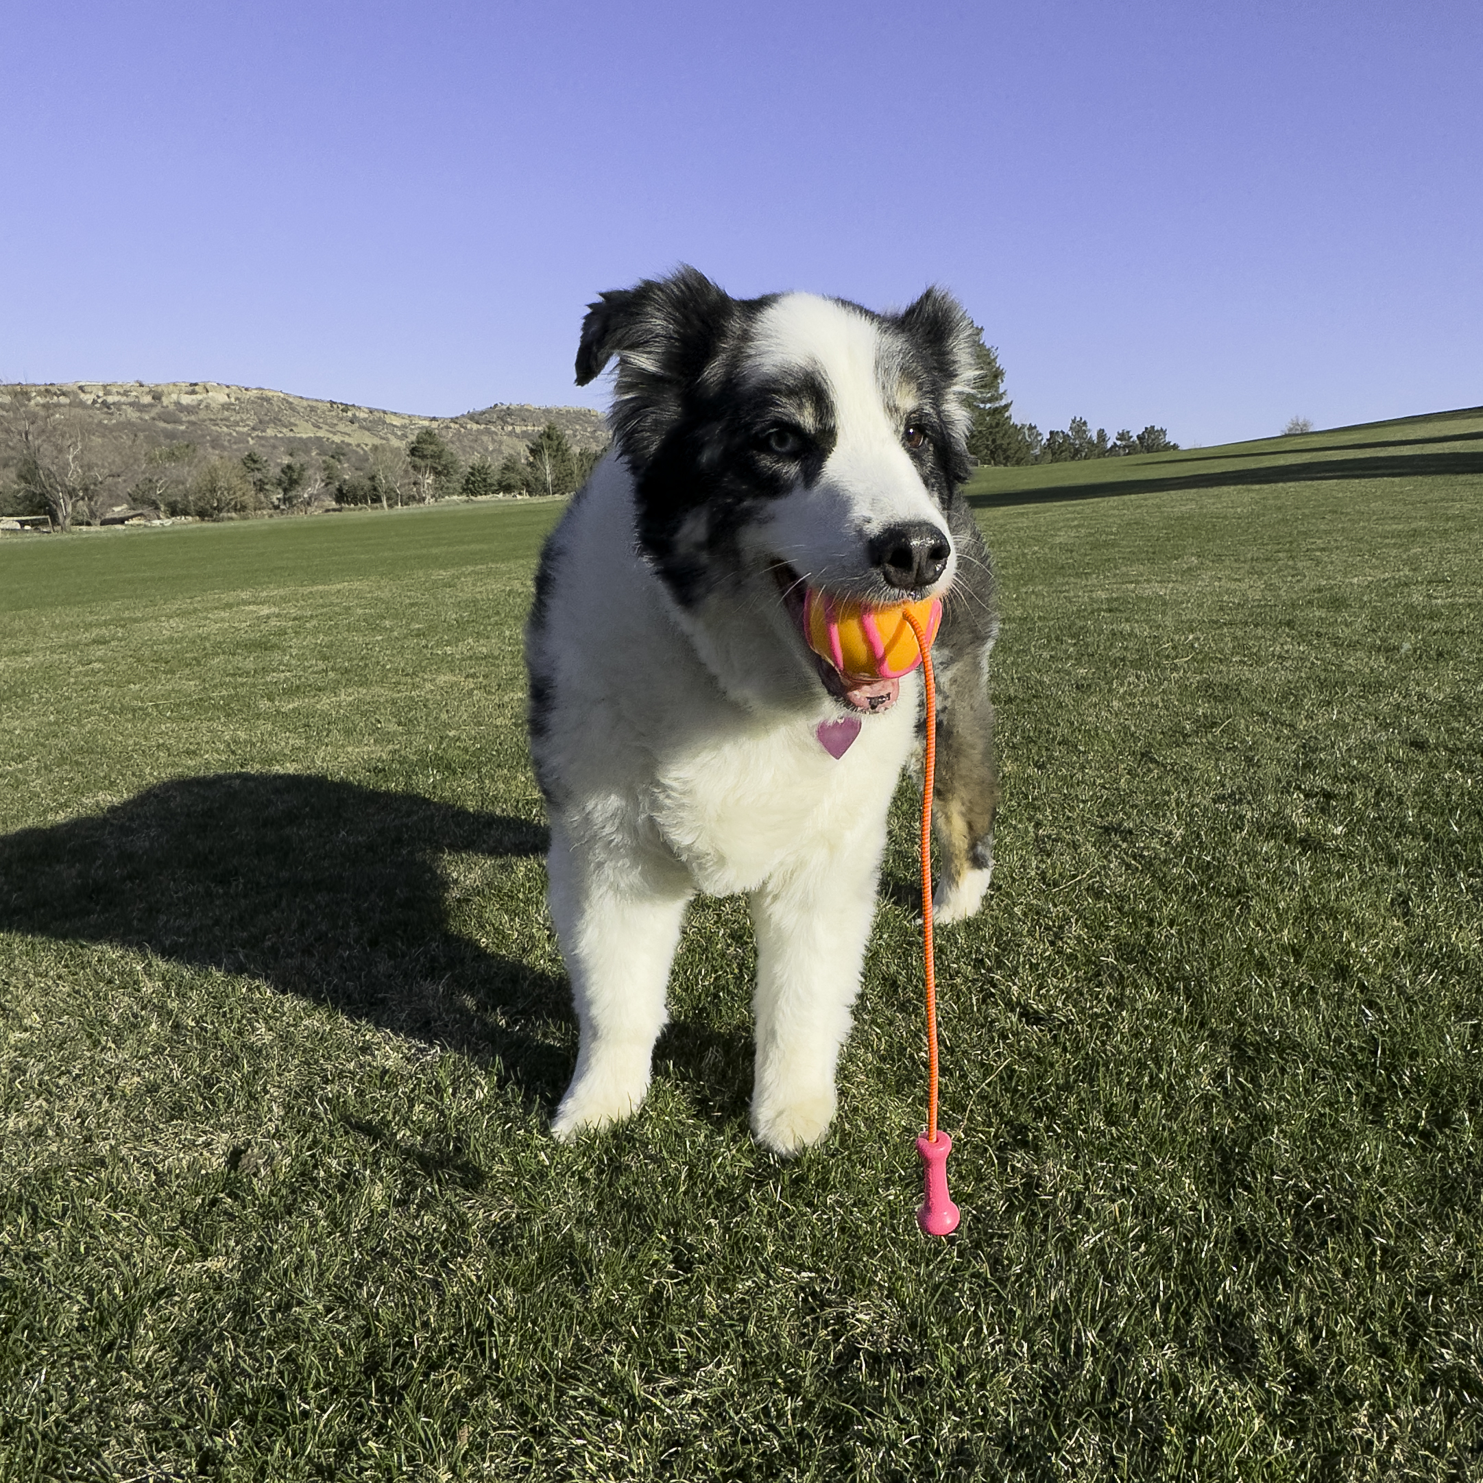
M 581 488 L 604 454 L 574 448 L 547 423 L 523 455 L 507 455 L 498 466 L 483 457 L 464 464 L 424 427 L 405 446 L 338 445 L 273 469 L 251 449 L 240 458 L 208 457 L 188 440 L 144 446 L 139 439 L 99 439 L 79 418 L 21 393 L 12 393 L 9 411 L 12 473 L 0 485 L 0 515 L 44 515 L 62 531 L 98 525 L 116 512 L 228 519 L 326 504 L 390 509 L 454 495 L 565 495 Z

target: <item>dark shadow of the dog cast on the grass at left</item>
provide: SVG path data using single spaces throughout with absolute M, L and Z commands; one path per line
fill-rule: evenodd
M 547 1109 L 571 1071 L 564 979 L 454 930 L 442 857 L 546 853 L 523 819 L 297 774 L 160 783 L 0 836 L 0 930 L 148 949 L 500 1060 Z

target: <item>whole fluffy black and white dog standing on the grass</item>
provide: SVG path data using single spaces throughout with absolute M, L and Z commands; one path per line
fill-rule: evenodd
M 581 1025 L 558 1137 L 642 1103 L 696 891 L 750 900 L 756 1137 L 795 1152 L 833 1118 L 921 672 L 842 679 L 804 641 L 805 587 L 943 598 L 937 919 L 977 909 L 995 618 L 958 488 L 976 344 L 937 289 L 875 314 L 736 300 L 682 268 L 592 305 L 577 383 L 617 357 L 614 448 L 546 543 L 525 635 L 550 908 Z

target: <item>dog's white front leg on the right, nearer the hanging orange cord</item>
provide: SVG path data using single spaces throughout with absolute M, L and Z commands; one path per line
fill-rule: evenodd
M 756 1072 L 752 1132 L 779 1154 L 817 1143 L 833 1120 L 835 1066 L 860 992 L 879 848 L 832 853 L 752 894 Z

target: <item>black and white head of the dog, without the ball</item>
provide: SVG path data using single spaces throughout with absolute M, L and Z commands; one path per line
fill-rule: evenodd
M 590 307 L 577 383 L 617 357 L 639 544 L 687 626 L 728 651 L 713 663 L 753 667 L 707 621 L 734 635 L 718 610 L 740 602 L 792 636 L 796 670 L 866 709 L 804 648 L 804 589 L 890 604 L 952 584 L 977 338 L 939 289 L 875 314 L 811 294 L 736 300 L 688 267 Z

